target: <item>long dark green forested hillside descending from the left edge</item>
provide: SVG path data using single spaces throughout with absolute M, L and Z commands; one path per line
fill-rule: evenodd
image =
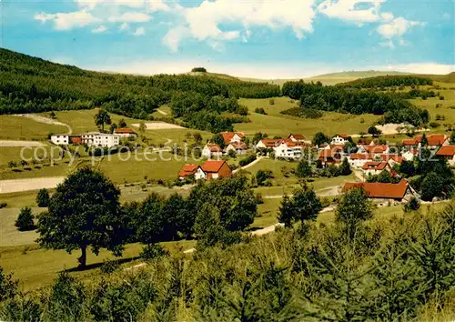
M 244 114 L 238 97 L 280 95 L 279 86 L 221 79 L 210 75 L 119 75 L 86 71 L 0 49 L 0 114 L 102 107 L 114 113 L 149 118 L 169 104 L 187 126 L 229 130 Z M 241 113 L 243 112 L 243 113 Z

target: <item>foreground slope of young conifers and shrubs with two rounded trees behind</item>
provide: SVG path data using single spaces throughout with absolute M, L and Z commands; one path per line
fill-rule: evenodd
M 225 216 L 211 215 L 213 202 L 229 211 L 222 201 L 199 202 L 207 204 L 199 205 L 206 214 L 200 224 L 231 225 Z M 320 209 L 314 191 L 303 186 L 283 200 L 278 216 L 286 227 L 274 234 L 198 248 L 191 259 L 161 253 L 133 274 L 106 262 L 99 276 L 84 283 L 64 271 L 51 286 L 23 293 L 14 276 L 0 269 L 0 317 L 251 322 L 453 317 L 453 203 L 437 213 L 371 220 L 368 196 L 354 188 L 340 198 L 333 221 L 318 223 Z M 217 236 L 217 229 L 204 234 Z

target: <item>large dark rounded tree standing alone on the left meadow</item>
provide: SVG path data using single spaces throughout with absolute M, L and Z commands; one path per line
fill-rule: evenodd
M 48 212 L 38 217 L 41 247 L 81 250 L 79 267 L 86 267 L 86 248 L 98 255 L 106 248 L 120 256 L 124 234 L 119 211 L 120 191 L 101 172 L 82 168 L 56 188 Z

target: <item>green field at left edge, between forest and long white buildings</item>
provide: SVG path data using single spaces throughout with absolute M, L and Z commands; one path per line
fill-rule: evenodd
M 66 126 L 36 122 L 21 116 L 0 116 L 0 139 L 45 140 L 50 133 L 66 133 Z

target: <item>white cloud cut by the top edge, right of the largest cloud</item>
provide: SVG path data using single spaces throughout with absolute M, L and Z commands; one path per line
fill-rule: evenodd
M 379 21 L 379 8 L 384 0 L 325 0 L 318 6 L 320 13 L 357 24 Z M 359 5 L 368 8 L 359 8 Z

